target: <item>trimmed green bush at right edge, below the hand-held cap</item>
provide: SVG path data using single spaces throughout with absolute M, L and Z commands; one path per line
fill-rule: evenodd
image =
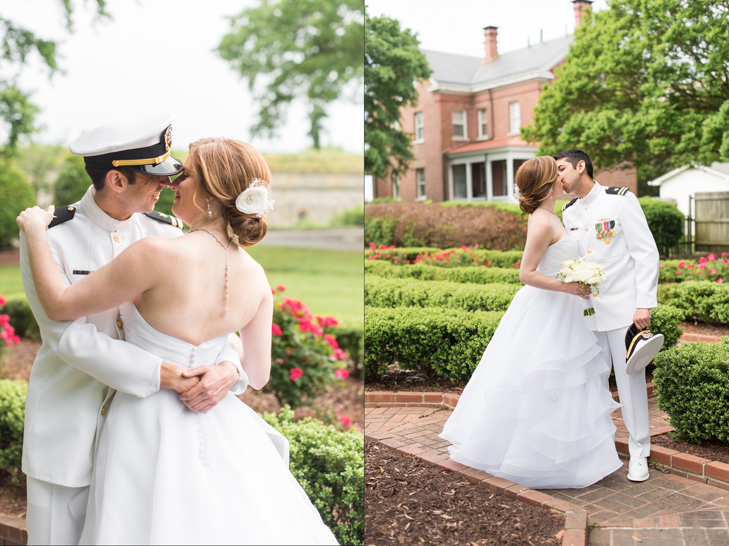
M 658 407 L 688 442 L 729 442 L 729 339 L 685 343 L 653 361 Z

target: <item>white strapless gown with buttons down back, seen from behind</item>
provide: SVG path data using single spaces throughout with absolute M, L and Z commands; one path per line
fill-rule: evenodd
M 215 362 L 227 336 L 194 346 L 120 307 L 126 340 L 165 362 Z M 117 392 L 98 439 L 81 544 L 336 545 L 240 399 L 194 413 L 178 394 Z

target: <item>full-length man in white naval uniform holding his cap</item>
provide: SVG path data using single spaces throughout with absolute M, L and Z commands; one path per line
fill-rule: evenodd
M 625 373 L 625 333 L 631 324 L 646 328 L 650 310 L 658 305 L 658 248 L 640 203 L 628 188 L 595 182 L 590 156 L 581 149 L 566 150 L 554 158 L 564 192 L 577 195 L 562 208 L 564 227 L 579 241 L 580 255 L 598 262 L 605 274 L 599 295 L 593 292 L 590 297 L 595 312 L 585 320 L 590 321 L 602 356 L 614 365 L 623 421 L 630 434 L 628 480 L 644 481 L 650 455 L 645 370 Z

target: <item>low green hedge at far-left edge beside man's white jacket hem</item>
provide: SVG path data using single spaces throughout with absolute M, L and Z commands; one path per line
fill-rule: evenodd
M 5 470 L 14 482 L 23 473 L 23 421 L 26 411 L 28 383 L 22 379 L 0 380 L 0 469 Z

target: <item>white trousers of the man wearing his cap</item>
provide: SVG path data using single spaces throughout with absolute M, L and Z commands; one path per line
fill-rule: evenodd
M 26 478 L 28 545 L 73 545 L 81 539 L 89 486 L 65 487 Z

